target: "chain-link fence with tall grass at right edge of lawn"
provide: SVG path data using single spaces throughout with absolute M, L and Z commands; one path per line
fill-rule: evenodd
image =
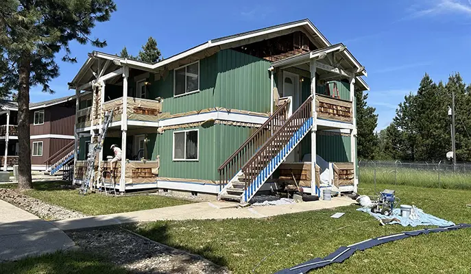
M 360 184 L 471 189 L 471 162 L 359 161 Z

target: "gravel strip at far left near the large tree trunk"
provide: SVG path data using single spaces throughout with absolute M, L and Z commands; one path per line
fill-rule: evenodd
M 63 220 L 86 217 L 83 213 L 62 208 L 62 206 L 50 205 L 44 201 L 23 195 L 21 192 L 14 189 L 0 188 L 0 199 L 26 210 L 27 212 L 31 212 L 45 220 Z

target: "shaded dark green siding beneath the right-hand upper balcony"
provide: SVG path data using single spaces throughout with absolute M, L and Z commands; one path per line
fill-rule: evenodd
M 316 135 L 316 152 L 328 162 L 350 162 L 350 136 Z

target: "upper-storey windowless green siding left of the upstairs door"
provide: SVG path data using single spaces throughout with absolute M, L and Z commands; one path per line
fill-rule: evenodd
M 254 112 L 270 111 L 271 63 L 226 49 L 217 53 L 219 106 Z

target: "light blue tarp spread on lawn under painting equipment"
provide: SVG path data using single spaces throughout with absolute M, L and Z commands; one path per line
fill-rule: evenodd
M 378 220 L 379 219 L 396 218 L 396 219 L 400 220 L 400 222 L 392 221 L 388 224 L 394 225 L 394 224 L 398 223 L 398 224 L 402 225 L 403 227 L 407 227 L 408 225 L 410 225 L 411 227 L 416 227 L 418 225 L 436 225 L 436 226 L 439 226 L 439 227 L 448 227 L 450 225 L 455 225 L 455 223 L 452 223 L 450 221 L 446 221 L 444 219 L 439 219 L 439 218 L 437 218 L 437 217 L 435 217 L 431 214 L 426 214 L 420 208 L 415 208 L 415 210 L 417 212 L 417 215 L 419 217 L 419 219 L 417 219 L 417 220 L 412 220 L 412 219 L 404 218 L 404 217 L 400 216 L 400 209 L 399 208 L 394 209 L 393 214 L 391 216 L 386 216 L 386 215 L 379 214 L 379 213 L 373 213 L 373 212 L 371 212 L 371 208 L 359 208 L 357 210 L 366 212 L 367 214 L 370 214 L 371 216 L 374 216 L 374 218 L 376 218 Z

